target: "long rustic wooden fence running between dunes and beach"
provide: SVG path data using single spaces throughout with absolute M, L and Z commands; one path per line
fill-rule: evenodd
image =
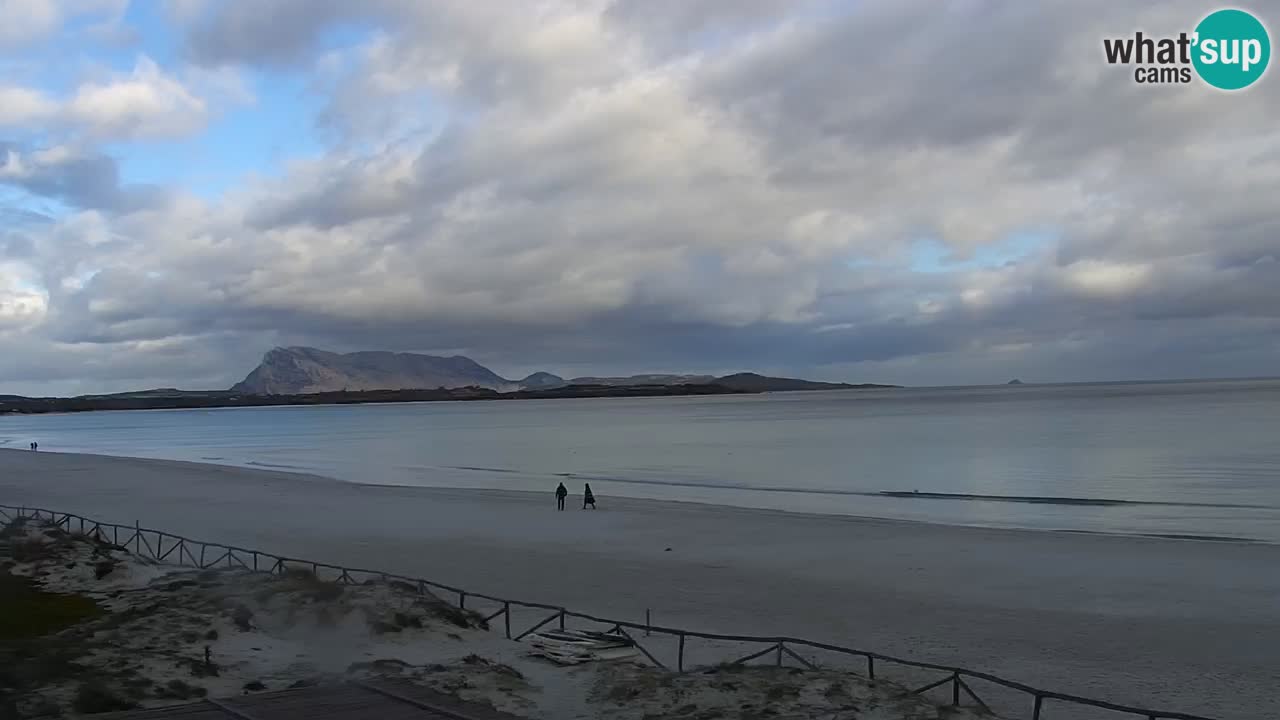
M 503 632 L 506 637 L 515 641 L 524 639 L 529 634 L 547 626 L 550 623 L 558 623 L 558 626 L 563 629 L 566 619 L 570 618 L 586 623 L 609 625 L 612 626 L 609 632 L 621 634 L 622 637 L 627 638 L 650 662 L 663 669 L 666 669 L 667 666 L 663 662 L 660 662 L 648 648 L 641 646 L 636 641 L 636 637 L 628 633 L 627 630 L 643 630 L 645 635 L 650 635 L 653 633 L 660 635 L 669 635 L 677 639 L 676 670 L 680 673 L 685 671 L 687 639 L 698 638 L 704 641 L 722 641 L 722 642 L 765 646 L 764 650 L 759 652 L 754 652 L 745 657 L 730 661 L 728 662 L 730 665 L 742 665 L 745 662 L 750 662 L 753 660 L 760 660 L 763 657 L 772 655 L 773 664 L 777 666 L 781 666 L 785 659 L 791 659 L 792 661 L 800 664 L 804 667 L 814 669 L 817 667 L 817 664 L 813 662 L 812 660 L 805 659 L 804 656 L 800 655 L 800 652 L 796 651 L 796 648 L 810 648 L 810 650 L 822 650 L 826 652 L 833 652 L 849 657 L 865 659 L 867 678 L 872 680 L 876 679 L 877 661 L 882 664 L 900 665 L 904 667 L 914 667 L 918 670 L 936 670 L 943 673 L 945 674 L 943 678 L 941 678 L 937 682 L 928 683 L 911 692 L 915 694 L 920 694 L 933 689 L 947 687 L 950 684 L 951 705 L 959 706 L 961 702 L 961 693 L 963 693 L 964 696 L 968 696 L 969 700 L 972 700 L 977 707 L 989 712 L 991 708 L 988 707 L 988 705 L 982 698 L 978 697 L 973 687 L 966 682 L 966 680 L 983 680 L 987 683 L 992 683 L 995 685 L 1000 685 L 1030 696 L 1032 700 L 1032 708 L 1029 715 L 1030 720 L 1047 720 L 1043 714 L 1044 714 L 1044 701 L 1048 700 L 1061 703 L 1096 707 L 1100 710 L 1108 710 L 1112 712 L 1126 714 L 1139 717 L 1142 720 L 1213 720 L 1212 717 L 1206 717 L 1203 715 L 1190 715 L 1187 712 L 1172 712 L 1167 710 L 1151 710 L 1144 707 L 1134 707 L 1128 705 L 1107 702 L 1103 700 L 1075 696 L 1070 693 L 1059 693 L 1053 691 L 1036 688 L 1024 683 L 1018 683 L 1015 680 L 1006 680 L 1005 678 L 1000 678 L 989 673 L 968 670 L 964 667 L 955 667 L 951 665 L 941 665 L 937 662 L 924 662 L 919 660 L 895 657 L 892 655 L 869 652 L 864 650 L 856 650 L 851 647 L 844 647 L 844 646 L 809 641 L 803 638 L 730 635 L 723 633 L 703 633 L 698 630 L 686 630 L 681 628 L 652 625 L 648 621 L 631 623 L 627 620 L 613 620 L 608 618 L 588 615 L 585 612 L 575 612 L 571 610 L 566 610 L 564 607 L 559 607 L 557 605 L 547 605 L 541 602 L 526 602 L 521 600 L 511 600 L 484 593 L 470 592 L 453 585 L 435 583 L 431 580 L 424 580 L 421 578 L 408 578 L 404 575 L 394 575 L 390 573 L 383 573 L 380 570 L 366 570 L 362 568 L 344 568 L 339 565 L 316 562 L 312 560 L 301 560 L 297 557 L 273 555 L 270 552 L 264 552 L 260 550 L 250 550 L 230 544 L 197 541 L 182 536 L 175 536 L 173 533 L 166 533 L 163 530 L 152 530 L 150 528 L 142 528 L 138 523 L 134 523 L 133 525 L 105 523 L 101 520 L 93 520 L 70 512 L 59 512 L 54 510 L 46 510 L 44 507 L 27 507 L 20 505 L 0 505 L 0 519 L 4 519 L 5 521 L 10 523 L 19 519 L 42 520 L 51 525 L 59 527 L 65 532 L 72 532 L 72 528 L 74 525 L 78 525 L 77 534 L 82 534 L 84 537 L 93 537 L 101 542 L 108 542 L 108 536 L 104 532 L 104 529 L 110 529 L 111 544 L 127 550 L 129 544 L 133 543 L 134 553 L 143 557 L 150 557 L 156 561 L 165 561 L 166 559 L 177 557 L 177 561 L 173 561 L 174 565 L 193 566 L 201 569 L 216 568 L 220 565 L 225 568 L 239 566 L 244 570 L 260 571 L 260 573 L 265 571 L 282 575 L 291 570 L 301 569 L 305 571 L 310 571 L 316 577 L 319 577 L 319 571 L 324 569 L 333 571 L 334 582 L 342 584 L 360 584 L 357 583 L 356 578 L 364 577 L 365 582 L 378 579 L 381 582 L 404 583 L 410 587 L 416 588 L 420 593 L 424 594 L 428 591 L 439 591 L 445 594 L 453 594 L 458 598 L 460 609 L 466 607 L 468 598 L 472 601 L 472 605 L 475 605 L 475 601 L 488 601 L 499 605 L 500 610 L 497 610 L 492 615 L 488 615 L 485 618 L 485 624 L 488 625 L 498 616 L 502 616 Z M 124 530 L 124 533 L 122 533 L 120 530 Z M 148 534 L 151 536 L 152 539 L 155 539 L 154 546 L 151 541 L 147 539 Z M 122 536 L 124 537 L 123 543 L 120 542 Z M 169 541 L 170 543 L 168 550 L 164 548 L 165 541 Z M 177 553 L 174 553 L 175 548 Z M 192 551 L 192 548 L 198 550 L 198 559 L 197 555 Z M 212 553 L 210 553 L 210 551 L 212 551 Z M 209 560 L 209 557 L 212 557 L 212 560 Z M 251 562 L 246 561 L 244 560 L 246 557 L 251 559 Z M 518 633 L 515 637 L 512 637 L 512 630 L 511 630 L 512 609 L 543 610 L 550 612 L 550 615 L 545 616 L 541 621 L 536 623 L 535 625 L 524 630 L 522 633 Z

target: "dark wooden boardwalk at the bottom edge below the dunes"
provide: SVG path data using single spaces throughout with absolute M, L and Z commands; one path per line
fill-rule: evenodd
M 101 720 L 522 720 L 408 683 L 342 683 L 108 712 Z

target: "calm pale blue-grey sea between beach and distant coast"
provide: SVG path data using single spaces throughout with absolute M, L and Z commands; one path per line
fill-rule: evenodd
M 1268 542 L 1277 432 L 1280 380 L 0 416 L 9 447 L 353 483 Z

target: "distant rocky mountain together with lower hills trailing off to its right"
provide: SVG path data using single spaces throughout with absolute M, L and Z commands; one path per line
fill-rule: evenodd
M 897 386 L 847 384 L 771 378 L 755 373 L 732 375 L 641 374 L 626 377 L 577 377 L 566 380 L 552 373 L 532 373 L 509 380 L 489 368 L 453 355 L 412 352 L 329 352 L 315 347 L 275 347 L 230 392 L 241 395 L 308 395 L 385 389 L 484 388 L 499 393 L 549 391 L 566 387 L 721 386 L 739 392 L 788 392 L 810 389 L 867 389 Z M 152 391 L 156 392 L 156 391 Z M 172 391 L 180 392 L 180 391 Z

